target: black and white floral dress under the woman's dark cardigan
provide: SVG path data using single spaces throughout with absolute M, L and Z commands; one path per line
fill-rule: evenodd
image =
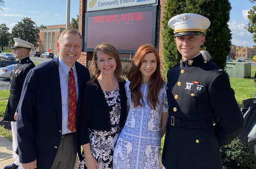
M 120 134 L 121 128 L 119 126 L 120 120 L 120 95 L 119 86 L 111 92 L 103 91 L 106 102 L 108 104 L 110 118 L 111 118 L 111 131 L 96 131 L 88 128 L 90 137 L 90 148 L 92 156 L 96 159 L 100 169 L 112 169 L 113 152 L 115 145 Z M 82 152 L 84 158 L 84 152 Z M 86 159 L 80 162 L 79 169 L 86 169 Z

